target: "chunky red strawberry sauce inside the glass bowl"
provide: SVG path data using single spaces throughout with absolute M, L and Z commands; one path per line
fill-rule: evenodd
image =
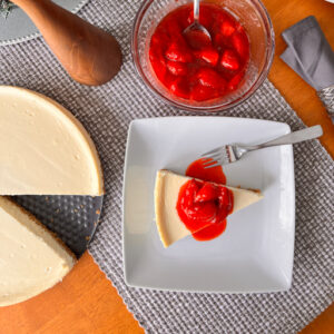
M 203 33 L 186 39 L 193 23 L 193 4 L 169 12 L 156 28 L 149 59 L 158 80 L 178 97 L 205 101 L 237 89 L 249 61 L 249 41 L 243 26 L 215 3 L 200 4 Z

